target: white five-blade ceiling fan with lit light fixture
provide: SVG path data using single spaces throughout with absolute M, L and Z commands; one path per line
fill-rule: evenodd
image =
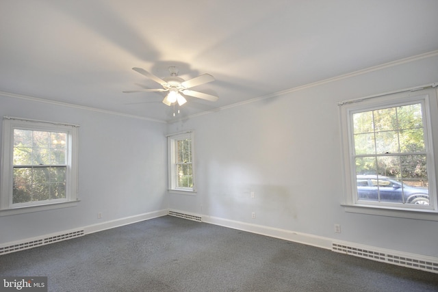
M 132 70 L 139 72 L 140 74 L 149 77 L 153 81 L 162 85 L 163 88 L 154 88 L 154 89 L 144 89 L 144 90 L 125 90 L 124 93 L 132 93 L 132 92 L 166 92 L 169 93 L 163 99 L 163 103 L 165 105 L 172 105 L 178 103 L 178 105 L 183 105 L 187 102 L 183 95 L 193 96 L 196 98 L 205 99 L 206 101 L 217 101 L 218 96 L 206 94 L 203 92 L 198 92 L 194 90 L 190 90 L 189 88 L 193 88 L 195 86 L 208 83 L 214 81 L 214 77 L 209 74 L 199 75 L 198 77 L 194 77 L 187 81 L 178 77 L 178 68 L 175 66 L 170 66 L 168 68 L 170 72 L 170 77 L 159 78 L 152 73 L 142 69 L 134 67 Z

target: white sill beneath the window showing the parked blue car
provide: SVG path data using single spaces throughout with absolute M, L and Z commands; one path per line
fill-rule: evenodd
M 341 204 L 344 210 L 348 213 L 359 213 L 368 215 L 378 215 L 387 217 L 409 218 L 416 220 L 438 221 L 437 211 L 418 210 L 418 209 L 397 209 L 397 208 L 382 208 L 365 205 L 348 205 Z

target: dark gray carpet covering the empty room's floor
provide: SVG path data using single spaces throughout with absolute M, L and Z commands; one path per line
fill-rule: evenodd
M 438 291 L 438 274 L 159 217 L 0 256 L 49 291 Z

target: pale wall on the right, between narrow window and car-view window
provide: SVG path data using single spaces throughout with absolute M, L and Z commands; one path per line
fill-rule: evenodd
M 168 194 L 169 207 L 438 257 L 438 222 L 346 213 L 340 206 L 337 106 L 437 81 L 435 54 L 170 124 L 168 133 L 195 131 L 198 192 Z M 342 233 L 334 233 L 334 224 Z

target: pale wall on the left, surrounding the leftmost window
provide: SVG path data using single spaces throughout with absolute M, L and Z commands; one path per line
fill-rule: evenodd
M 80 125 L 81 201 L 77 207 L 0 217 L 0 243 L 167 208 L 166 124 L 0 94 L 2 116 Z

